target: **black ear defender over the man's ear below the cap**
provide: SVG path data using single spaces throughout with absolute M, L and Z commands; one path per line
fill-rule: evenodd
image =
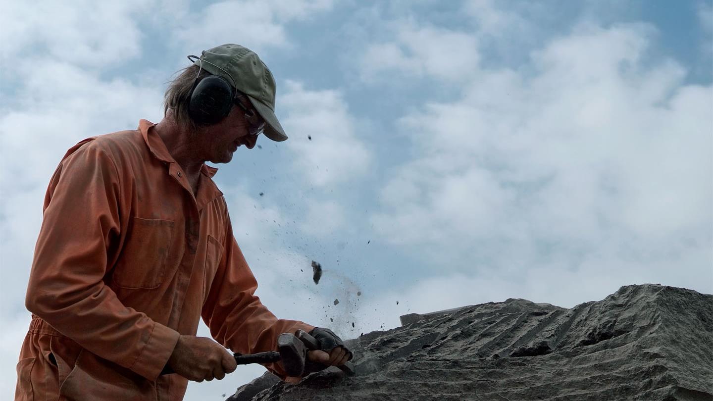
M 193 61 L 191 57 L 200 60 L 200 68 L 195 76 L 193 89 L 190 91 L 188 116 L 198 125 L 210 126 L 220 122 L 230 113 L 235 98 L 235 88 L 225 78 L 217 75 L 206 76 L 199 81 L 198 76 L 203 68 L 203 60 L 198 56 L 188 56 L 190 61 Z

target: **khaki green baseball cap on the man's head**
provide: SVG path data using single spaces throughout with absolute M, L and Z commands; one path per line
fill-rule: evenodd
M 203 51 L 193 64 L 202 66 L 213 75 L 222 76 L 238 91 L 245 93 L 265 120 L 267 138 L 278 142 L 287 139 L 275 116 L 275 78 L 254 51 L 239 44 L 223 44 Z

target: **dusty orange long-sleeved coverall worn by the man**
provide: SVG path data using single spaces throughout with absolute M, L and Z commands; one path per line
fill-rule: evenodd
M 313 328 L 260 303 L 211 179 L 217 169 L 202 166 L 194 196 L 152 127 L 141 120 L 137 131 L 81 141 L 51 178 L 16 401 L 182 400 L 188 380 L 159 374 L 200 317 L 242 354 Z M 266 367 L 285 377 L 279 364 Z

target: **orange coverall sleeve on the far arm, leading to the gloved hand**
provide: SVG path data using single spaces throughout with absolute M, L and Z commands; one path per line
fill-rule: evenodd
M 202 317 L 210 334 L 233 352 L 251 354 L 277 350 L 277 337 L 314 326 L 299 320 L 277 319 L 255 295 L 257 280 L 232 234 L 230 218 L 225 235 L 225 251 L 203 305 Z M 287 377 L 279 363 L 265 365 L 278 377 Z

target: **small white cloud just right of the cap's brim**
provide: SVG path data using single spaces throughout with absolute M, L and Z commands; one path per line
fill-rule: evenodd
M 287 81 L 287 93 L 277 104 L 287 109 L 282 118 L 295 155 L 295 171 L 304 172 L 309 185 L 346 183 L 365 173 L 371 151 L 354 131 L 354 118 L 339 91 L 310 91 Z M 309 139 L 309 138 L 312 139 Z

